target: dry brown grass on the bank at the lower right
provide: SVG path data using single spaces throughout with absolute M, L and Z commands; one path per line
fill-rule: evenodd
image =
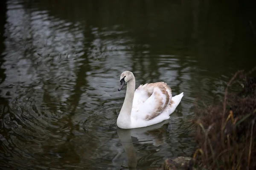
M 194 120 L 199 147 L 188 169 L 256 169 L 256 77 L 238 71 L 227 85 L 223 102 L 200 111 Z M 229 93 L 240 84 L 241 89 Z

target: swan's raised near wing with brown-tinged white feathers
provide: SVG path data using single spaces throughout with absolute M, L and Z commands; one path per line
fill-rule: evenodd
M 164 82 L 145 84 L 138 90 L 143 90 L 149 96 L 140 104 L 138 111 L 140 117 L 145 120 L 151 120 L 160 115 L 172 101 L 172 90 Z

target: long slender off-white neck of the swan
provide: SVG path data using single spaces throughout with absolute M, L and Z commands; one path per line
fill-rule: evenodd
M 125 128 L 131 125 L 131 109 L 134 99 L 135 78 L 127 82 L 125 100 L 117 118 L 118 127 Z

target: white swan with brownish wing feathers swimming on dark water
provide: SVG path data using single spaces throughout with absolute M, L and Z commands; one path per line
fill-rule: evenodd
M 125 100 L 116 121 L 122 129 L 147 127 L 169 119 L 183 97 L 183 92 L 172 97 L 172 90 L 165 82 L 147 83 L 135 90 L 135 77 L 131 71 L 122 72 L 118 91 L 125 83 Z

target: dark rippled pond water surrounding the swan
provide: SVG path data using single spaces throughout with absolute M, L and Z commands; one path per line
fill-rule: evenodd
M 256 63 L 253 6 L 230 1 L 2 0 L 1 169 L 158 169 L 191 156 L 195 99 L 221 100 Z M 164 81 L 184 97 L 156 127 L 122 130 L 125 91 Z M 203 107 L 203 106 L 198 106 Z

